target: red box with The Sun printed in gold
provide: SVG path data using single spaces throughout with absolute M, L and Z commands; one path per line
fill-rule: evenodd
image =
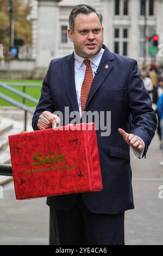
M 101 191 L 95 123 L 9 136 L 16 199 Z

